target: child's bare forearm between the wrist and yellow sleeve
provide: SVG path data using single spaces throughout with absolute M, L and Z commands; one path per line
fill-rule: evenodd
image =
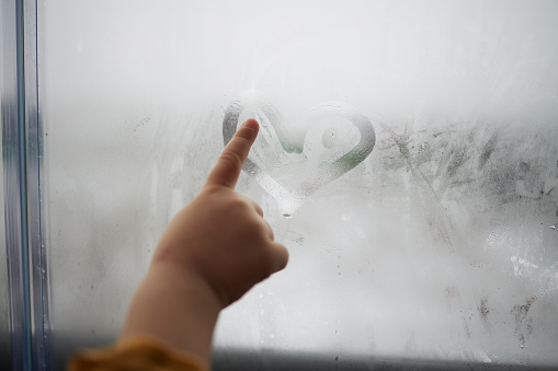
M 200 276 L 153 262 L 137 290 L 121 339 L 149 335 L 207 362 L 221 303 Z

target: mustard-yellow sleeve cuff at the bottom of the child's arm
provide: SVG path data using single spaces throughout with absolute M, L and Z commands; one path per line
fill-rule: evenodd
M 118 344 L 83 350 L 73 356 L 68 371 L 208 371 L 205 361 L 180 352 L 148 336 L 134 336 Z

